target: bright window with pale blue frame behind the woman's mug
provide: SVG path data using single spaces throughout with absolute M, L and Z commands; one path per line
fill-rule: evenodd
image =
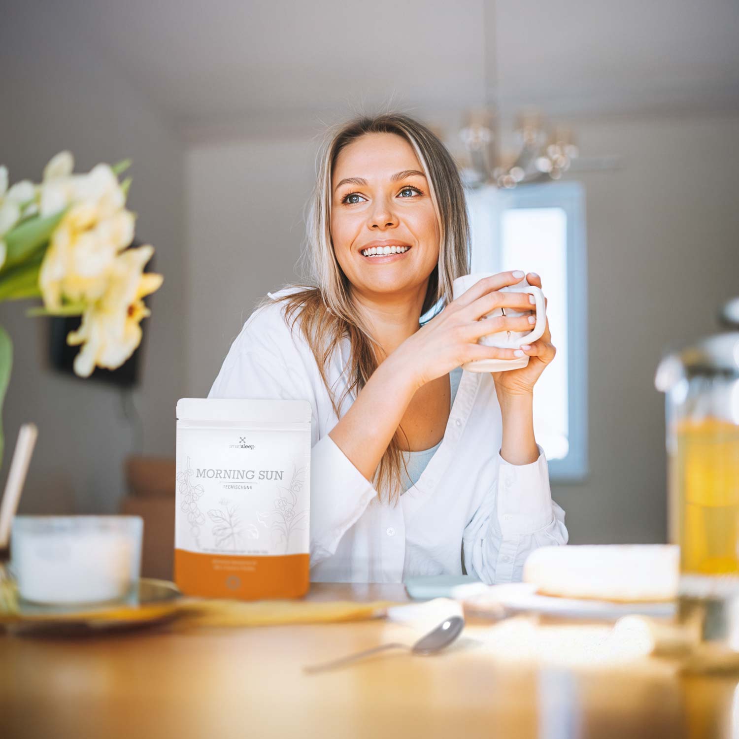
M 534 388 L 534 431 L 553 480 L 587 471 L 585 216 L 578 183 L 481 188 L 467 194 L 472 272 L 537 272 L 556 359 Z

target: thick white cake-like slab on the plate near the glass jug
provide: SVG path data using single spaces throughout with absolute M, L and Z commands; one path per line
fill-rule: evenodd
M 675 599 L 680 548 L 672 544 L 539 547 L 523 565 L 537 593 L 614 602 Z

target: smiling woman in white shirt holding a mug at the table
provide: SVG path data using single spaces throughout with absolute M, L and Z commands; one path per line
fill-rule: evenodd
M 452 301 L 452 281 L 469 272 L 463 185 L 443 143 L 405 115 L 329 132 L 308 227 L 315 286 L 268 293 L 208 397 L 313 406 L 311 579 L 521 579 L 529 551 L 568 539 L 532 420 L 534 383 L 555 353 L 549 327 L 521 350 L 477 344 L 531 328 L 527 317 L 478 320 L 495 307 L 530 313 L 528 295 L 500 292 L 523 273 Z M 541 287 L 534 273 L 528 282 Z M 460 369 L 522 353 L 522 369 Z

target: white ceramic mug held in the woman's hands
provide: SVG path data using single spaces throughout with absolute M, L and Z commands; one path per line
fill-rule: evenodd
M 472 285 L 480 282 L 481 279 L 491 277 L 494 272 L 475 272 L 470 275 L 457 277 L 452 283 L 453 296 L 456 300 L 460 295 L 466 293 Z M 488 333 L 486 336 L 480 336 L 477 340 L 478 344 L 485 344 L 488 347 L 500 347 L 502 349 L 518 349 L 522 344 L 531 344 L 540 338 L 544 333 L 547 325 L 546 306 L 544 302 L 544 293 L 539 287 L 529 285 L 524 277 L 521 282 L 516 285 L 506 285 L 500 290 L 505 293 L 529 293 L 534 296 L 534 306 L 537 310 L 537 322 L 531 331 L 500 331 L 498 333 Z M 508 318 L 519 318 L 525 316 L 525 311 L 513 310 L 505 308 L 505 316 Z M 503 310 L 496 308 L 485 316 L 483 319 L 503 316 Z M 503 372 L 506 369 L 519 369 L 528 364 L 528 356 L 522 356 L 516 359 L 478 359 L 477 361 L 465 362 L 462 369 L 468 372 Z

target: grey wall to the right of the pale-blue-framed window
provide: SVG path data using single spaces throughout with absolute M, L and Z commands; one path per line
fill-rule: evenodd
M 624 155 L 587 174 L 590 477 L 557 486 L 573 543 L 667 537 L 667 347 L 717 329 L 739 295 L 739 118 L 646 118 L 577 129 L 582 149 Z

